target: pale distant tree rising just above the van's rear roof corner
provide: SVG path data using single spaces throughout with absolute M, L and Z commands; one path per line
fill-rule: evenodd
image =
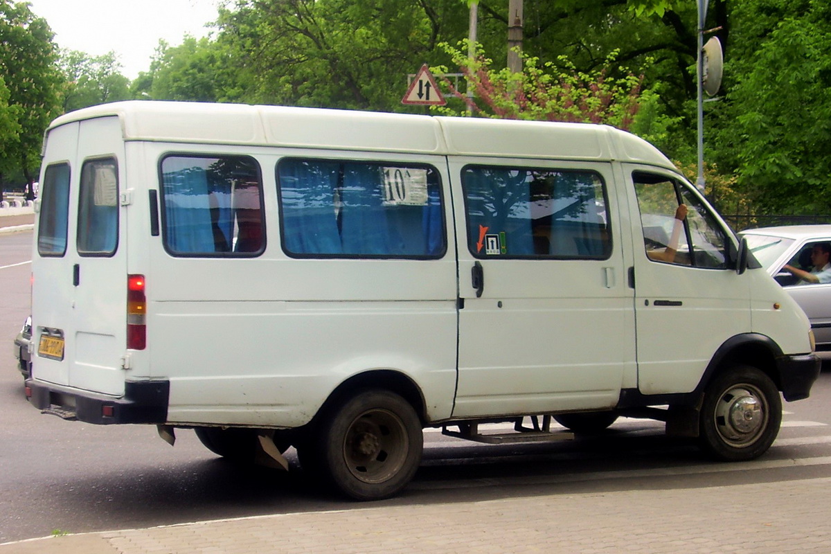
M 130 98 L 130 80 L 121 75 L 121 64 L 114 51 L 103 56 L 61 51 L 60 64 L 66 77 L 62 95 L 65 112 Z

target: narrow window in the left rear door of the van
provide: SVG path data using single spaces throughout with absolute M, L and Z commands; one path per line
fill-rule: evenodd
M 61 257 L 66 253 L 66 227 L 69 223 L 69 164 L 47 167 L 41 187 L 40 223 L 37 228 L 37 253 Z

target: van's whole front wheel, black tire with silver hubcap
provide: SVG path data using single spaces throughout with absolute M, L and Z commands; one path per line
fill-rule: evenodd
M 761 370 L 736 366 L 707 386 L 701 406 L 701 448 L 720 460 L 758 458 L 774 443 L 782 423 L 782 399 Z

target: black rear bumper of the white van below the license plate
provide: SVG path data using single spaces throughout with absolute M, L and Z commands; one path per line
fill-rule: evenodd
M 29 402 L 44 412 L 90 424 L 164 424 L 170 397 L 170 381 L 127 381 L 124 396 L 60 387 L 28 379 Z

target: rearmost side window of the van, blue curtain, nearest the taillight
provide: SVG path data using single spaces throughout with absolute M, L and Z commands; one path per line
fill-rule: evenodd
M 162 236 L 173 256 L 252 257 L 265 249 L 263 179 L 248 156 L 161 161 Z

